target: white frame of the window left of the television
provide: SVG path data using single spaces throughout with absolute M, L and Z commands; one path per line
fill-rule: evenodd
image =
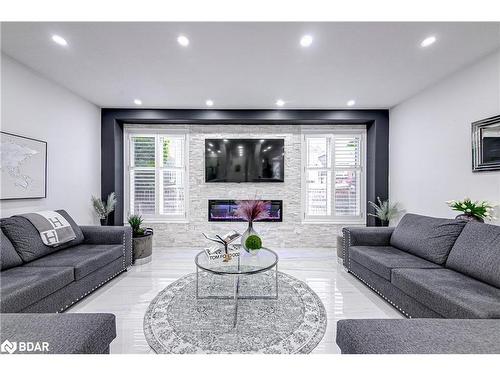
M 124 160 L 124 205 L 123 205 L 123 218 L 124 224 L 128 222 L 128 216 L 131 213 L 130 207 L 130 141 L 131 136 L 143 136 L 143 137 L 155 137 L 155 145 L 158 147 L 158 141 L 160 136 L 171 136 L 173 138 L 183 138 L 184 139 L 184 167 L 165 167 L 163 163 L 160 162 L 162 159 L 162 152 L 155 152 L 155 214 L 154 215 L 142 215 L 144 223 L 189 223 L 189 131 L 187 129 L 172 129 L 172 128 L 142 128 L 142 127 L 132 127 L 124 126 L 123 132 L 123 160 Z M 161 165 L 161 167 L 160 167 Z M 142 167 L 139 167 L 141 169 Z M 152 168 L 152 167 L 150 167 Z M 163 171 L 169 169 L 183 169 L 184 178 L 184 213 L 180 215 L 160 215 L 159 207 L 163 204 L 163 196 L 161 194 L 160 180 L 163 177 Z

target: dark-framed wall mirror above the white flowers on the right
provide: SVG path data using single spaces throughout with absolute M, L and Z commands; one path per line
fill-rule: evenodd
M 472 123 L 472 171 L 500 170 L 500 116 Z

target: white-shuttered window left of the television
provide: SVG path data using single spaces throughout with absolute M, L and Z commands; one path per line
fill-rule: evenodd
M 187 219 L 186 134 L 127 130 L 126 212 L 149 221 Z

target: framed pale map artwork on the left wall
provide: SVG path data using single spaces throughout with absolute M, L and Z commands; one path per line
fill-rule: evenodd
M 0 132 L 0 199 L 47 197 L 47 142 Z

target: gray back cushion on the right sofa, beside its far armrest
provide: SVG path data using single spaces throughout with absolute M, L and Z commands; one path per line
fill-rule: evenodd
M 466 222 L 406 214 L 394 229 L 391 245 L 443 265 Z

